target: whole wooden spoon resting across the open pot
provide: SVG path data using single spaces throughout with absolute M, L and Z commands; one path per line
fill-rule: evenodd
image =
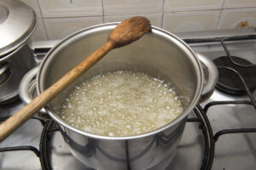
M 25 105 L 20 111 L 17 111 L 14 116 L 9 117 L 8 120 L 0 125 L 0 142 L 3 141 L 10 133 L 14 132 L 16 128 L 26 122 L 37 111 L 47 105 L 51 99 L 54 99 L 64 88 L 67 88 L 74 80 L 80 77 L 84 71 L 87 71 L 90 66 L 96 64 L 97 61 L 107 54 L 113 48 L 125 46 L 131 42 L 136 41 L 151 29 L 150 22 L 141 16 L 132 17 L 124 20 L 108 36 L 106 42 L 101 48 L 98 48 L 93 54 L 84 59 L 73 70 L 67 72 L 64 77 L 52 86 L 46 89 L 37 98 L 33 99 L 29 104 Z

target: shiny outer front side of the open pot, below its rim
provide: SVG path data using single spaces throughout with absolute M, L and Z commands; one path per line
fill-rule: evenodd
M 80 138 L 77 133 L 61 127 L 61 133 L 69 149 L 79 161 L 93 165 L 96 169 L 145 169 L 154 168 L 165 158 L 175 153 L 181 139 L 185 121 L 176 130 L 166 129 L 161 133 L 141 139 L 98 140 Z M 129 167 L 130 166 L 130 167 Z

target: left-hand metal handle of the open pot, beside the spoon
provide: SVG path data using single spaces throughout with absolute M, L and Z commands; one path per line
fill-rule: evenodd
M 20 82 L 20 87 L 19 87 L 20 99 L 25 105 L 31 102 L 33 97 L 35 97 L 33 96 L 34 93 L 38 95 L 36 91 L 37 73 L 38 73 L 38 67 L 35 67 L 32 70 L 28 71 Z M 44 119 L 44 120 L 50 119 L 47 114 L 47 111 L 45 111 L 44 108 L 38 111 L 38 114 L 36 114 L 35 116 L 38 117 L 39 119 Z

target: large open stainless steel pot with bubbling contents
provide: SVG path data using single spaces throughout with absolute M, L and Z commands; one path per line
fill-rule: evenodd
M 45 56 L 37 75 L 38 94 L 78 65 L 86 56 L 102 46 L 117 24 L 93 26 L 67 37 Z M 207 65 L 205 83 L 201 61 Z M 61 100 L 65 99 L 74 84 L 106 71 L 135 70 L 155 77 L 172 80 L 177 94 L 181 95 L 184 111 L 180 116 L 152 132 L 127 137 L 108 137 L 86 133 L 61 119 Z M 207 71 L 207 70 L 206 70 Z M 32 79 L 26 75 L 25 79 Z M 171 161 L 183 134 L 189 112 L 214 88 L 218 73 L 212 62 L 195 54 L 178 37 L 153 27 L 137 42 L 117 48 L 93 65 L 82 77 L 61 92 L 45 107 L 55 122 L 68 148 L 79 161 L 96 169 L 160 169 L 163 162 Z M 25 81 L 26 82 L 26 81 Z M 205 90 L 203 88 L 205 84 Z M 86 103 L 84 103 L 86 105 Z

